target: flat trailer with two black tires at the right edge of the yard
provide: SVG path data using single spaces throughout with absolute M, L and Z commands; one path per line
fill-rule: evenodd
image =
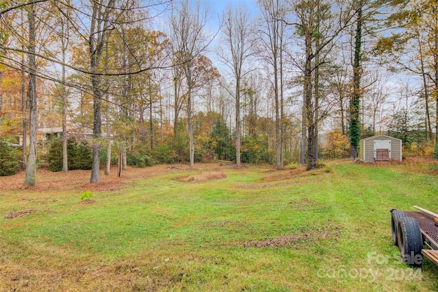
M 421 267 L 423 256 L 438 265 L 438 214 L 418 206 L 414 208 L 419 211 L 391 209 L 394 245 L 407 265 Z

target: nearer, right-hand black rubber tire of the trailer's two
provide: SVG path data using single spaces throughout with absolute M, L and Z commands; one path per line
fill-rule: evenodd
M 423 236 L 417 220 L 411 217 L 400 217 L 397 234 L 402 262 L 420 267 L 423 263 Z

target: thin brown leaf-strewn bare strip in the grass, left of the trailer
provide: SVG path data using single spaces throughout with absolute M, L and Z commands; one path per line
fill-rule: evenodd
M 271 239 L 261 239 L 258 241 L 246 241 L 244 243 L 236 243 L 235 245 L 240 245 L 243 247 L 291 247 L 300 245 L 301 243 L 314 243 L 315 241 L 322 241 L 325 239 L 330 239 L 335 236 L 339 236 L 341 231 L 335 228 L 335 230 L 310 230 L 302 231 L 298 234 L 286 234 L 277 236 Z

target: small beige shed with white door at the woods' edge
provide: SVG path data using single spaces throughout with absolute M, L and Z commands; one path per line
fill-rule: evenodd
M 365 162 L 402 161 L 402 141 L 386 135 L 364 138 L 359 143 L 359 158 Z

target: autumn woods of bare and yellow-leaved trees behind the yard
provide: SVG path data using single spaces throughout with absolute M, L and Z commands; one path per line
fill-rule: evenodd
M 76 168 L 73 137 L 92 183 L 112 163 L 310 170 L 373 134 L 432 155 L 438 3 L 400 2 L 259 0 L 218 19 L 207 1 L 0 0 L 1 139 L 28 185 L 43 162 Z

